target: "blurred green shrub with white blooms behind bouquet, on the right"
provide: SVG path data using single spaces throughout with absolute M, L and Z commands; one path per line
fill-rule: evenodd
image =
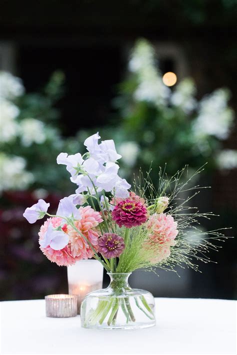
M 165 164 L 168 174 L 185 164 L 197 169 L 208 162 L 209 171 L 237 167 L 237 151 L 223 149 L 234 120 L 227 88 L 216 89 L 198 101 L 190 77 L 172 88 L 165 86 L 152 45 L 139 39 L 118 91 L 113 100 L 118 114 L 99 131 L 103 138 L 113 137 L 119 145 L 123 173 L 130 180 L 140 166 L 147 171 L 151 161 L 153 179 L 158 166 Z M 80 131 L 79 140 L 88 134 Z

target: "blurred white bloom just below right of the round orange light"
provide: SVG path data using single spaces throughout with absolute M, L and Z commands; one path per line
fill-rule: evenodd
M 196 87 L 193 80 L 185 78 L 175 86 L 174 92 L 170 97 L 170 102 L 185 113 L 190 113 L 196 107 L 196 100 L 193 97 L 195 93 Z

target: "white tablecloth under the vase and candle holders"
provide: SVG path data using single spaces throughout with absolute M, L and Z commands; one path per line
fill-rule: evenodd
M 236 302 L 166 299 L 156 326 L 80 328 L 80 317 L 47 318 L 44 300 L 1 302 L 1 354 L 235 354 Z

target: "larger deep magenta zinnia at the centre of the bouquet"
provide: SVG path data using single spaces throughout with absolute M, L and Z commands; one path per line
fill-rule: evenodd
M 140 226 L 147 220 L 147 210 L 140 201 L 125 199 L 120 201 L 112 211 L 112 219 L 119 227 Z

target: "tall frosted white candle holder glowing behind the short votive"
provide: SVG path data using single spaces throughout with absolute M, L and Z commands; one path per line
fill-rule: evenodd
M 85 296 L 102 288 L 103 267 L 94 259 L 80 260 L 67 267 L 68 293 L 77 296 L 77 314 Z

